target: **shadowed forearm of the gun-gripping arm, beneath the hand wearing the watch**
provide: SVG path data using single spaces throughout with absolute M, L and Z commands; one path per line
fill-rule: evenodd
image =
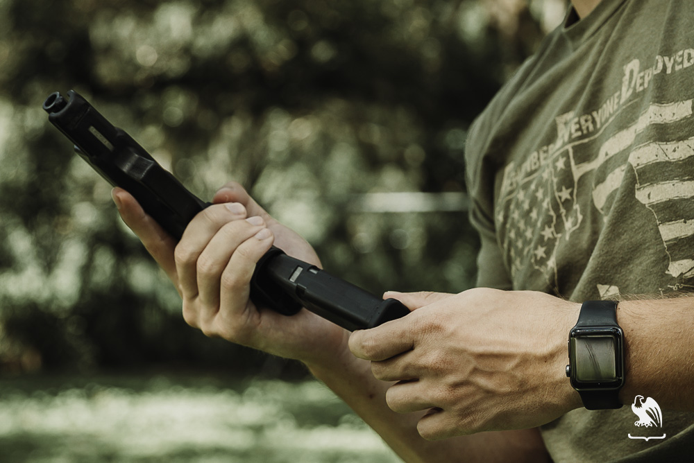
M 427 441 L 417 432 L 423 413 L 390 410 L 385 392 L 390 383 L 371 374 L 370 362 L 349 352 L 329 367 L 308 365 L 316 378 L 330 387 L 371 426 L 405 462 L 543 462 L 549 461 L 536 429 L 511 430 Z

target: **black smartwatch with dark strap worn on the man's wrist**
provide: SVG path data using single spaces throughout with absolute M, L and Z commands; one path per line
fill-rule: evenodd
M 622 407 L 624 331 L 617 324 L 617 302 L 583 303 L 568 335 L 566 376 L 588 410 Z

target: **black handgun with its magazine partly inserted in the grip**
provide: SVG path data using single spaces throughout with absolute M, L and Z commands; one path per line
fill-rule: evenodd
M 210 206 L 188 191 L 124 130 L 112 125 L 76 91 L 56 91 L 43 109 L 74 149 L 113 186 L 128 191 L 161 227 L 180 240 L 188 223 Z M 283 315 L 302 307 L 345 329 L 369 329 L 404 317 L 409 309 L 396 299 L 381 299 L 316 265 L 271 247 L 257 262 L 251 300 Z

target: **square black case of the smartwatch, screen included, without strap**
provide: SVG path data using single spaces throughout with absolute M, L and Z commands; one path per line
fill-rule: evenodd
M 569 340 L 573 387 L 605 389 L 623 384 L 620 329 L 574 329 Z

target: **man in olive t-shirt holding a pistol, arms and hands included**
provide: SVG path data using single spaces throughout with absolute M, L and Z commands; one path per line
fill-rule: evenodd
M 413 312 L 350 337 L 307 311 L 283 317 L 248 300 L 254 264 L 273 243 L 320 261 L 238 184 L 217 192 L 178 245 L 115 189 L 124 221 L 180 292 L 186 322 L 303 361 L 408 462 L 691 455 L 694 299 L 663 296 L 694 283 L 694 5 L 572 4 L 469 135 L 480 288 L 388 293 Z M 624 386 L 595 401 L 566 378 L 567 363 L 573 380 L 586 373 L 568 360 L 568 335 L 584 320 L 582 302 L 627 294 L 651 296 L 612 306 L 623 352 L 573 345 L 588 345 L 595 374 L 625 362 Z M 636 416 L 611 408 L 636 394 L 665 410 L 666 437 L 629 439 Z

